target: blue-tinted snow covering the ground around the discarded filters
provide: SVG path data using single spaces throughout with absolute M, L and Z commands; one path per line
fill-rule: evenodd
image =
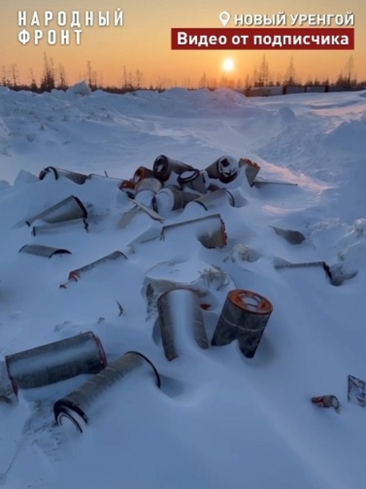
M 0 360 L 93 331 L 109 362 L 131 350 L 146 355 L 161 389 L 144 382 L 124 390 L 122 382 L 82 434 L 56 426 L 52 406 L 83 379 L 0 403 L 0 484 L 364 488 L 365 410 L 347 403 L 347 376 L 366 379 L 366 92 L 83 97 L 74 88 L 39 95 L 0 87 Z M 259 180 L 296 185 L 250 187 L 240 171 L 219 186 L 239 195 L 241 207 L 191 204 L 164 212 L 161 223 L 142 210 L 124 216 L 133 203 L 115 179 L 152 168 L 161 154 L 199 169 L 223 155 L 249 158 L 261 167 Z M 49 173 L 40 181 L 50 165 L 101 177 L 78 185 Z M 32 236 L 26 218 L 70 195 L 86 206 L 89 232 L 60 226 Z M 225 247 L 204 247 L 189 226 L 161 239 L 162 226 L 215 214 L 225 222 Z M 271 226 L 306 239 L 290 244 Z M 26 244 L 72 254 L 18 253 Z M 69 272 L 117 250 L 128 259 L 59 287 Z M 324 261 L 352 278 L 336 287 L 321 267 L 275 269 L 284 260 Z M 149 278 L 159 293 L 172 282 L 200 291 L 209 342 L 229 290 L 269 299 L 255 357 L 237 343 L 201 350 L 187 341 L 168 362 L 156 303 L 148 309 Z M 338 397 L 340 413 L 311 404 L 323 394 Z

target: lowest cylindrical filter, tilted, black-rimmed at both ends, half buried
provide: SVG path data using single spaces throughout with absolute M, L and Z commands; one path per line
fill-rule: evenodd
M 127 352 L 81 387 L 56 401 L 53 405 L 55 421 L 58 425 L 70 422 L 82 433 L 90 418 L 107 410 L 110 400 L 107 391 L 117 387 L 116 384 L 128 389 L 131 381 L 127 392 L 133 395 L 136 382 L 140 384 L 151 380 L 160 388 L 160 377 L 153 363 L 142 353 Z

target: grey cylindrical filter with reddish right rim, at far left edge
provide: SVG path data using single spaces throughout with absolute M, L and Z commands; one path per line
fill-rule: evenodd
M 80 374 L 96 374 L 106 366 L 103 346 L 93 332 L 78 334 L 31 350 L 5 356 L 15 394 Z

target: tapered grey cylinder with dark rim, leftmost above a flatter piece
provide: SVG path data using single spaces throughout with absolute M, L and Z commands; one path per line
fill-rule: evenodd
M 28 219 L 26 219 L 26 224 L 30 226 L 31 223 L 36 220 L 54 224 L 56 222 L 58 223 L 80 218 L 84 219 L 86 217 L 88 217 L 88 212 L 85 209 L 84 204 L 78 197 L 70 195 L 70 197 L 61 200 L 45 211 L 36 214 L 35 216 L 28 217 Z

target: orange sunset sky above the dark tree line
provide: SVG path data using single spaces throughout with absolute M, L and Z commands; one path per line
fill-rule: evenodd
M 42 19 L 45 10 L 56 14 L 59 10 L 70 13 L 79 10 L 109 10 L 117 8 L 124 12 L 123 27 L 84 27 L 81 44 L 71 41 L 69 46 L 57 43 L 49 46 L 45 39 L 38 46 L 32 41 L 22 45 L 18 33 L 24 27 L 18 26 L 18 11 L 26 10 L 28 17 L 37 11 Z M 232 14 L 228 27 L 234 26 L 235 14 L 268 14 L 283 11 L 289 14 L 345 14 L 351 11 L 355 16 L 354 51 L 172 51 L 170 48 L 171 27 L 222 27 L 219 21 L 221 11 Z M 70 15 L 71 17 L 71 15 Z M 82 15 L 81 15 L 82 18 Z M 113 24 L 113 23 L 111 23 Z M 336 27 L 336 26 L 334 26 Z M 61 28 L 52 23 L 49 27 L 26 27 L 34 29 Z M 75 27 L 73 27 L 75 28 Z M 42 74 L 43 55 L 52 57 L 57 68 L 62 64 L 68 83 L 74 83 L 86 76 L 87 60 L 98 73 L 104 84 L 120 85 L 123 66 L 134 73 L 140 70 L 145 84 L 159 81 L 182 85 L 188 77 L 197 83 L 206 73 L 208 79 L 228 78 L 244 80 L 253 74 L 255 65 L 261 62 L 263 54 L 269 64 L 274 81 L 286 74 L 293 56 L 296 75 L 302 81 L 317 76 L 335 80 L 344 70 L 350 55 L 353 56 L 355 74 L 359 80 L 366 79 L 366 1 L 365 0 L 0 0 L 0 67 L 8 70 L 17 65 L 19 81 L 30 82 L 30 69 L 38 81 Z M 223 62 L 234 61 L 234 69 L 225 73 Z M 101 79 L 103 77 L 103 79 Z

